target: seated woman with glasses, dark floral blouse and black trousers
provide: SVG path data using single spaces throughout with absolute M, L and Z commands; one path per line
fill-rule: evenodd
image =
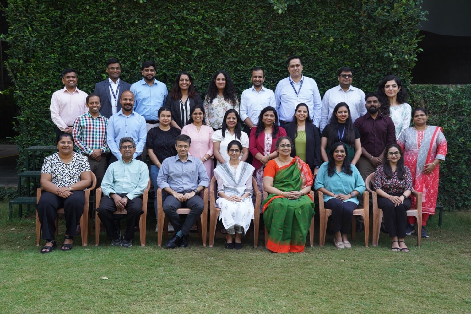
M 401 147 L 387 145 L 382 164 L 374 172 L 374 190 L 378 193 L 378 207 L 383 211 L 384 222 L 391 237 L 394 252 L 409 249 L 406 238 L 407 210 L 411 208 L 412 176 L 404 166 Z

